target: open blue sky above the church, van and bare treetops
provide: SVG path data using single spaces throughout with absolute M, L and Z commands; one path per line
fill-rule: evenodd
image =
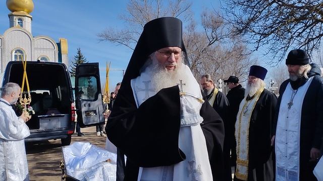
M 80 0 L 34 0 L 32 35 L 45 35 L 56 42 L 66 38 L 69 59 L 76 55 L 77 48 L 89 62 L 99 62 L 101 86 L 105 82 L 105 62 L 111 61 L 111 69 L 126 69 L 132 50 L 109 42 L 99 42 L 97 33 L 105 28 L 122 29 L 125 22 L 119 15 L 126 11 L 128 1 L 80 1 Z M 218 1 L 192 1 L 195 20 L 199 21 L 200 12 L 205 8 L 217 8 Z M 9 28 L 8 14 L 11 13 L 6 2 L 0 5 L 0 35 Z M 122 80 L 122 71 L 110 71 L 110 91 Z

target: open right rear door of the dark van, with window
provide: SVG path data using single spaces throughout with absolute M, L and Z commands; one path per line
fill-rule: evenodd
M 81 128 L 104 124 L 99 63 L 76 66 L 75 106 Z

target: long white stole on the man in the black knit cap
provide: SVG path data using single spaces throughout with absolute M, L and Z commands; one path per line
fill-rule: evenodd
M 288 83 L 279 108 L 275 137 L 276 180 L 299 180 L 300 127 L 302 105 L 310 77 L 294 95 Z M 289 103 L 293 103 L 289 108 Z

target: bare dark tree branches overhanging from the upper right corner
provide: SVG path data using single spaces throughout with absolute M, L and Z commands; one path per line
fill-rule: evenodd
M 234 35 L 244 36 L 254 45 L 272 54 L 270 63 L 283 60 L 290 49 L 302 48 L 308 54 L 321 47 L 323 2 L 316 0 L 224 0 L 223 18 L 234 27 Z

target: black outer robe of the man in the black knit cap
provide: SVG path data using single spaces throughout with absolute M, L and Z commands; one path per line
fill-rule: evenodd
M 300 79 L 300 84 L 305 83 L 305 78 Z M 280 87 L 277 107 L 281 105 L 281 99 L 290 79 L 285 80 Z M 298 85 L 300 86 L 300 85 Z M 296 86 L 296 88 L 298 88 Z M 285 103 L 287 104 L 287 103 Z M 278 116 L 278 114 L 277 114 Z M 277 121 L 277 120 L 276 120 Z M 277 122 L 276 122 L 277 124 Z M 273 130 L 276 132 L 275 129 Z M 323 78 L 315 75 L 304 97 L 301 113 L 300 127 L 300 180 L 316 180 L 313 169 L 316 161 L 311 160 L 310 150 L 312 147 L 320 149 L 323 136 Z

